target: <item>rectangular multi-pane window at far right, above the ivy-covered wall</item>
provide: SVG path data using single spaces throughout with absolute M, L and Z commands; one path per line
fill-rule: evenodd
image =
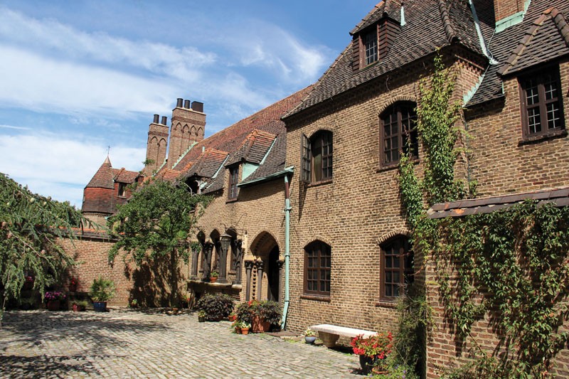
M 559 68 L 549 67 L 519 79 L 523 136 L 551 134 L 564 128 Z

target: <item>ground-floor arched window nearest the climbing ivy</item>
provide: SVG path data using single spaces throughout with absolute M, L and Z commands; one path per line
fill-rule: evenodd
M 381 245 L 381 297 L 398 297 L 401 288 L 413 282 L 413 274 L 413 251 L 407 237 Z

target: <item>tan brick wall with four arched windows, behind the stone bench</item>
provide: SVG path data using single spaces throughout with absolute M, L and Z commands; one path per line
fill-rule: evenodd
M 470 90 L 480 69 L 467 61 L 459 68 L 457 92 Z M 333 181 L 304 186 L 298 170 L 292 181 L 289 329 L 301 331 L 312 324 L 395 329 L 395 304 L 380 298 L 379 244 L 408 230 L 400 209 L 398 170 L 380 166 L 378 117 L 397 101 L 416 101 L 418 80 L 416 71 L 394 75 L 388 85 L 378 80 L 354 94 L 355 99 L 337 100 L 337 109 L 331 105 L 317 119 L 287 122 L 287 165 L 295 168 L 300 166 L 301 134 L 334 132 Z M 421 166 L 419 162 L 418 172 Z M 312 240 L 331 245 L 329 301 L 303 296 L 304 246 Z

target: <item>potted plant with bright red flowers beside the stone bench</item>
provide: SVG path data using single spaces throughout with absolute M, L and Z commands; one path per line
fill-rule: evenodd
M 368 375 L 372 368 L 377 373 L 382 373 L 385 371 L 385 358 L 393 348 L 393 335 L 391 332 L 378 333 L 368 338 L 360 335 L 354 337 L 350 345 L 353 353 L 360 356 L 361 370 L 364 375 Z

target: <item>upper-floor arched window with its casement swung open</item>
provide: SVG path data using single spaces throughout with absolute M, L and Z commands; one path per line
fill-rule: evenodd
M 302 181 L 327 181 L 332 178 L 334 147 L 332 132 L 321 130 L 309 139 L 302 134 Z

